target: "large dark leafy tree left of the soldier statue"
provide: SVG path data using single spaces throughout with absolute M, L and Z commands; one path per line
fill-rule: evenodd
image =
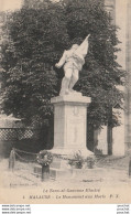
M 47 122 L 53 113 L 50 99 L 58 87 L 53 66 L 68 40 L 57 10 L 52 3 L 42 10 L 22 9 L 4 25 L 9 38 L 2 45 L 3 109 L 29 122 Z

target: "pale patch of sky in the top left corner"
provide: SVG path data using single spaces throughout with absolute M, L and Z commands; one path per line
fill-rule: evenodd
M 14 11 L 21 8 L 22 0 L 0 0 L 0 11 Z

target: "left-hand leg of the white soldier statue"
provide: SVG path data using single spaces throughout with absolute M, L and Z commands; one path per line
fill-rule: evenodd
M 64 78 L 62 81 L 62 86 L 61 86 L 59 95 L 68 94 L 68 87 L 69 87 L 69 82 L 70 82 L 72 73 L 73 73 L 72 68 L 67 68 L 65 71 L 65 76 L 64 76 Z

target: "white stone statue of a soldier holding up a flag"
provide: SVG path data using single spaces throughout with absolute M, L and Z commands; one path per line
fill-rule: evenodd
M 84 42 L 78 44 L 73 44 L 72 49 L 64 51 L 62 58 L 55 64 L 57 68 L 64 66 L 65 76 L 62 81 L 62 87 L 59 95 L 68 95 L 70 93 L 76 93 L 73 87 L 79 78 L 79 71 L 81 71 L 85 64 L 85 56 L 88 53 L 88 36 Z

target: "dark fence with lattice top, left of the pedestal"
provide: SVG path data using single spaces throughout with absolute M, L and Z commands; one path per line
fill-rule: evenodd
M 46 135 L 42 129 L 0 128 L 0 158 L 8 158 L 12 148 L 39 152 L 46 145 Z

